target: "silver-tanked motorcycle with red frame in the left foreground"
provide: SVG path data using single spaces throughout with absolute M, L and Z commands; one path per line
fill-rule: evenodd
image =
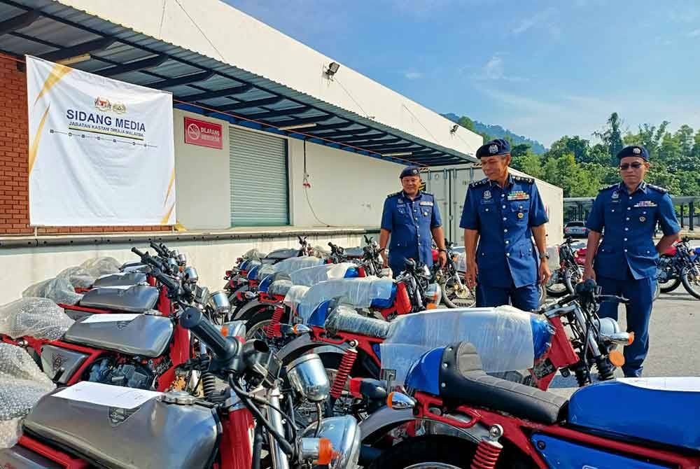
M 190 365 L 228 383 L 221 400 L 183 392 L 124 393 L 97 383 L 63 388 L 31 409 L 18 444 L 0 450 L 0 466 L 259 469 L 265 449 L 265 467 L 274 469 L 357 468 L 356 421 L 318 419 L 297 429 L 291 399 L 278 385 L 279 363 L 264 343 L 223 337 L 196 308 L 186 309 L 181 323 L 211 350 L 211 357 Z M 328 378 L 318 360 L 311 357 L 286 372 L 296 392 L 321 405 Z M 182 437 L 173 437 L 172 430 Z

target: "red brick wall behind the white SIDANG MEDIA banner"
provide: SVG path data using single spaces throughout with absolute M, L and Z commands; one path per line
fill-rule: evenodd
M 24 64 L 20 64 L 24 70 Z M 29 226 L 27 76 L 0 55 L 0 236 L 33 235 Z M 167 231 L 168 226 L 38 228 L 40 235 Z

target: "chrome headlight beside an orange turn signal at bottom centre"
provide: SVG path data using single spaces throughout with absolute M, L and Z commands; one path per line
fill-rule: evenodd
M 328 464 L 329 469 L 356 469 L 360 458 L 360 428 L 355 419 L 349 415 L 331 417 L 321 421 L 321 427 L 316 433 L 318 422 L 311 423 L 302 437 L 327 438 L 333 447 L 333 456 Z

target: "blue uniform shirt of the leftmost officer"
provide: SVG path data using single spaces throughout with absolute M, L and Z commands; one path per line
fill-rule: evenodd
M 405 259 L 433 265 L 433 234 L 442 225 L 433 194 L 420 192 L 410 200 L 403 191 L 384 200 L 381 228 L 391 231 L 389 265 L 394 275 L 403 270 Z

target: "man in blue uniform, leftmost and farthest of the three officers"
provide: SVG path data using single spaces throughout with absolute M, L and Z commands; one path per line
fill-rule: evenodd
M 420 190 L 421 174 L 417 167 L 403 169 L 399 179 L 403 190 L 390 194 L 384 200 L 381 214 L 379 248 L 384 258 L 384 267 L 391 267 L 393 276 L 404 270 L 406 259 L 433 265 L 433 242 L 440 251 L 440 265 L 447 262 L 444 248 L 444 232 L 440 209 L 433 194 Z M 388 259 L 386 246 L 391 235 Z

